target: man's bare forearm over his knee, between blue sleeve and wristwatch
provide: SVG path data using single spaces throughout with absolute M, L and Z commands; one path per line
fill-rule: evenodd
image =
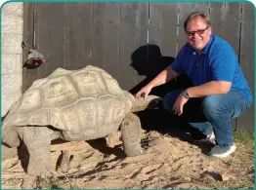
M 227 94 L 231 90 L 232 82 L 210 81 L 197 87 L 191 87 L 187 91 L 191 97 L 202 97 L 206 95 Z

